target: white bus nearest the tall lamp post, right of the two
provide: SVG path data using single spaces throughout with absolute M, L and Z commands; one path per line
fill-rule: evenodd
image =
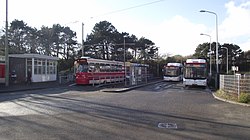
M 207 86 L 207 63 L 205 59 L 187 59 L 183 78 L 184 86 Z

